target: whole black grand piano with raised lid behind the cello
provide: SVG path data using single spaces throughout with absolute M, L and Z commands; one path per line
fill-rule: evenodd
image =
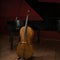
M 31 26 L 34 31 L 37 32 L 38 42 L 40 30 L 47 31 L 60 31 L 60 4 L 59 3 L 48 3 L 39 2 L 38 0 L 25 0 L 28 5 L 32 7 L 43 19 L 44 21 L 28 21 L 28 25 Z M 24 26 L 25 20 L 20 20 L 20 27 Z M 7 26 L 9 32 L 16 32 L 16 23 L 14 20 L 7 21 Z M 11 49 L 13 49 L 13 34 L 11 35 Z

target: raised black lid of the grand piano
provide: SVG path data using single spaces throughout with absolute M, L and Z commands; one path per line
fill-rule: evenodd
M 44 20 L 60 19 L 60 3 L 25 0 Z

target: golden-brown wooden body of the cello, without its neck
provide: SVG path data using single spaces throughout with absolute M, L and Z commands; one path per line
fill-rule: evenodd
M 30 58 L 33 55 L 33 47 L 31 45 L 31 40 L 34 35 L 34 31 L 27 27 L 26 38 L 23 38 L 24 27 L 20 30 L 21 42 L 19 42 L 17 47 L 17 54 L 19 57 L 24 57 L 25 59 Z

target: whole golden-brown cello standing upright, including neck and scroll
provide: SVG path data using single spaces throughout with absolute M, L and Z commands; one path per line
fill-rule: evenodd
M 27 25 L 28 17 L 30 15 L 30 10 L 28 10 L 28 14 L 26 16 L 25 26 L 20 29 L 20 42 L 17 46 L 17 55 L 22 60 L 29 59 L 33 56 L 33 46 L 31 44 L 31 40 L 34 36 L 33 29 Z

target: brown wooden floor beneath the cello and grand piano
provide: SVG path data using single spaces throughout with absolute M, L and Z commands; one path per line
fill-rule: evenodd
M 38 44 L 35 39 L 33 40 L 33 60 L 60 60 L 60 41 L 41 38 Z M 0 36 L 0 60 L 17 60 L 17 44 L 18 37 L 14 36 L 14 49 L 10 50 L 9 36 Z

